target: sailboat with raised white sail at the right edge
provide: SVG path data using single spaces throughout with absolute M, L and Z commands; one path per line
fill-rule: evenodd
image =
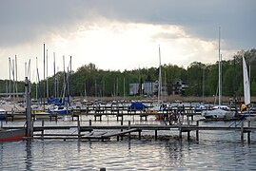
M 243 77 L 244 77 L 244 98 L 245 98 L 245 104 L 248 106 L 250 104 L 250 85 L 249 85 L 249 79 L 248 79 L 248 72 L 247 72 L 247 66 L 246 66 L 246 60 L 243 55 Z M 256 120 L 256 108 L 250 107 L 246 111 L 242 111 L 241 115 L 246 120 Z

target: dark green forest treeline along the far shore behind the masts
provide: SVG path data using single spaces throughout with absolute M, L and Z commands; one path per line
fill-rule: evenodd
M 249 73 L 251 96 L 256 96 L 256 49 L 243 51 Z M 222 61 L 222 94 L 234 97 L 243 96 L 242 51 L 233 55 L 231 60 Z M 182 96 L 213 96 L 218 88 L 219 62 L 202 64 L 193 62 L 187 68 L 165 64 L 161 66 L 162 82 L 167 85 L 171 95 L 177 81 L 187 84 Z M 48 80 L 38 84 L 31 83 L 31 97 L 61 97 L 64 92 L 70 96 L 128 96 L 129 84 L 155 82 L 158 80 L 159 67 L 133 70 L 103 70 L 94 64 L 80 66 L 76 71 L 59 71 Z M 48 83 L 48 84 L 47 84 Z M 12 85 L 11 85 L 12 84 Z M 48 85 L 49 91 L 46 92 Z M 11 88 L 10 88 L 10 87 Z M 0 80 L 0 92 L 12 91 L 13 82 Z M 14 89 L 14 88 L 13 88 Z M 24 92 L 24 82 L 17 83 L 18 92 Z M 12 91 L 13 92 L 13 91 Z

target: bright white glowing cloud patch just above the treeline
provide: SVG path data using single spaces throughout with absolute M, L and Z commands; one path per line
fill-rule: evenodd
M 102 20 L 101 20 L 102 21 Z M 104 23 L 104 25 L 103 25 Z M 53 75 L 53 52 L 56 54 L 56 66 L 63 69 L 72 56 L 72 69 L 89 63 L 102 69 L 124 70 L 139 67 L 158 66 L 158 47 L 161 47 L 162 64 L 187 67 L 194 61 L 215 63 L 217 61 L 217 40 L 202 40 L 193 37 L 185 28 L 171 25 L 152 25 L 144 23 L 84 22 L 74 26 L 70 32 L 53 32 L 46 36 L 48 49 L 48 75 Z M 40 41 L 39 41 L 40 42 Z M 24 70 L 24 64 L 31 60 L 35 64 L 38 57 L 40 78 L 43 79 L 43 41 L 42 44 L 30 43 L 2 50 L 1 56 L 18 57 L 18 69 Z M 36 47 L 36 48 L 34 48 Z M 26 52 L 26 53 L 25 53 Z M 226 54 L 233 51 L 226 51 Z M 1 58 L 4 59 L 4 58 Z M 224 58 L 230 58 L 225 57 Z M 8 58 L 5 59 L 6 61 Z M 5 70 L 8 67 L 5 66 Z M 45 67 L 47 68 L 47 66 Z M 35 65 L 31 65 L 31 80 L 35 80 Z M 19 72 L 22 80 L 25 72 Z M 1 73 L 9 78 L 8 73 Z

